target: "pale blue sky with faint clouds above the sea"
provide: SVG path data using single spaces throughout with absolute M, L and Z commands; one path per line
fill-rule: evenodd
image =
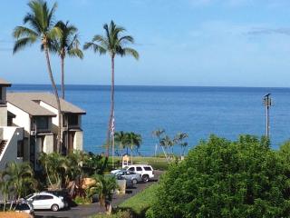
M 14 84 L 49 84 L 34 45 L 12 54 L 24 0 L 1 2 L 0 76 Z M 54 1 L 48 1 L 50 5 Z M 55 20 L 79 28 L 81 42 L 112 20 L 133 35 L 140 60 L 116 59 L 116 84 L 290 86 L 289 0 L 58 0 Z M 67 84 L 110 84 L 110 59 L 85 51 L 66 60 Z M 52 58 L 60 81 L 60 61 Z

